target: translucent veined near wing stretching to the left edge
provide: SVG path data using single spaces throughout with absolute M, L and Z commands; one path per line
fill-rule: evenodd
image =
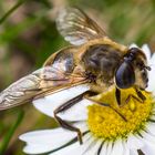
M 44 66 L 20 79 L 0 93 L 0 110 L 10 108 L 35 97 L 41 97 L 80 83 L 85 83 L 85 78 L 66 75 L 64 71 Z

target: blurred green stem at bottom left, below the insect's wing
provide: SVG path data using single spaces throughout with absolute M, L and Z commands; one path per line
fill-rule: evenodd
M 20 123 L 21 123 L 21 121 L 23 118 L 23 114 L 24 114 L 23 111 L 19 112 L 17 121 L 9 128 L 8 133 L 4 135 L 4 138 L 1 142 L 0 155 L 4 155 L 12 135 L 14 134 L 16 130 L 18 128 L 18 126 L 20 125 Z

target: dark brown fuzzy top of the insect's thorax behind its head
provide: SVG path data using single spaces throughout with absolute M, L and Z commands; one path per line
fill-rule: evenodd
M 123 54 L 124 51 L 112 44 L 93 44 L 83 53 L 82 63 L 85 71 L 96 75 L 96 79 L 102 79 L 104 83 L 111 83 Z

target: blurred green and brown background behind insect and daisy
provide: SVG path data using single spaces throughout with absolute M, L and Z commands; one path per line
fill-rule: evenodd
M 0 0 L 0 90 L 42 66 L 68 43 L 55 28 L 60 7 L 78 6 L 113 40 L 155 51 L 154 0 Z M 24 132 L 56 124 L 30 104 L 0 112 L 0 155 L 22 155 Z

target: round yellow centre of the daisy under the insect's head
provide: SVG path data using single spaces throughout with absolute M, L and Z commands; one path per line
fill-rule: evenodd
M 151 116 L 153 110 L 153 97 L 151 93 L 142 92 L 146 97 L 146 100 L 142 102 L 134 89 L 121 91 L 122 105 L 118 106 L 114 91 L 115 90 L 112 90 L 106 94 L 100 94 L 93 97 L 93 100 L 97 102 L 108 103 L 111 107 L 97 104 L 87 107 L 87 125 L 96 137 L 106 140 L 115 140 L 120 136 L 127 137 L 130 133 L 136 133 L 144 128 L 145 123 Z M 131 94 L 135 97 L 128 97 Z

